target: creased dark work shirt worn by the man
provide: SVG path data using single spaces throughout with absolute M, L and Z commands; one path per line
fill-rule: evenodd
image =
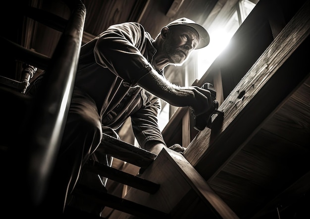
M 165 144 L 157 124 L 160 100 L 137 85 L 155 70 L 150 64 L 156 52 L 153 42 L 138 23 L 112 25 L 81 47 L 75 81 L 76 88 L 94 99 L 103 126 L 117 129 L 131 117 L 142 148 L 150 140 Z

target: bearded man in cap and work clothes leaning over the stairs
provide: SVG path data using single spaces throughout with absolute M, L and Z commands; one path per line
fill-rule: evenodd
M 159 98 L 174 106 L 189 106 L 195 115 L 209 109 L 209 91 L 178 87 L 163 75 L 166 66 L 182 65 L 194 49 L 208 43 L 209 35 L 202 26 L 181 18 L 163 27 L 155 40 L 142 25 L 128 22 L 110 26 L 81 47 L 56 165 L 57 180 L 52 183 L 55 186 L 59 179 L 68 182 L 63 190 L 57 189 L 65 194 L 64 200 L 103 132 L 113 132 L 131 117 L 139 145 L 158 154 L 167 146 L 157 124 Z

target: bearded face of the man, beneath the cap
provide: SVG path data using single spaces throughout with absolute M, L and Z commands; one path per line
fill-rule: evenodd
M 199 43 L 195 29 L 187 26 L 169 27 L 163 50 L 171 64 L 182 65 Z

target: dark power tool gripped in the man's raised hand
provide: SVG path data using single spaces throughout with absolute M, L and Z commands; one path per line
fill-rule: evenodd
M 197 131 L 203 131 L 206 127 L 211 129 L 211 125 L 212 125 L 212 118 L 211 117 L 212 117 L 212 115 L 223 113 L 222 111 L 217 110 L 218 101 L 215 100 L 216 91 L 215 91 L 214 86 L 210 83 L 205 83 L 201 88 L 210 91 L 211 97 L 213 100 L 213 105 L 206 113 L 201 114 L 199 116 L 195 116 L 193 114 L 193 111 L 192 111 L 192 115 L 194 116 L 194 128 Z

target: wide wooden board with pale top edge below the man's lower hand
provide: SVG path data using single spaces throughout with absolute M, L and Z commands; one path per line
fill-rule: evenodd
M 192 217 L 198 212 L 212 218 L 238 218 L 180 153 L 162 149 L 141 177 L 160 184 L 159 190 L 148 194 L 132 188 L 124 197 L 126 200 L 169 213 L 170 218 Z M 128 215 L 119 217 L 124 218 Z

